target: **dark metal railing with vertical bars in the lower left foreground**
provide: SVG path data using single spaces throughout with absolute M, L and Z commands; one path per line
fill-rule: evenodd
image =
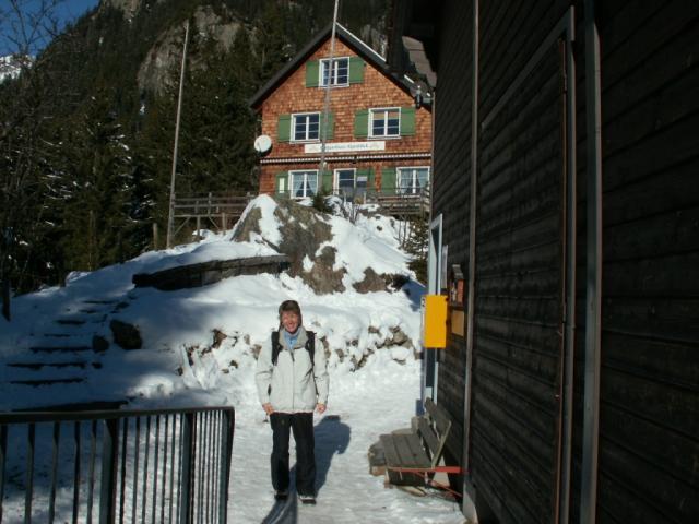
M 0 414 L 0 522 L 226 523 L 232 407 Z

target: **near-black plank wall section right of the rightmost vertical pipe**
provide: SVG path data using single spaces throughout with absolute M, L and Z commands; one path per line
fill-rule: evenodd
M 600 522 L 699 521 L 699 2 L 604 1 Z

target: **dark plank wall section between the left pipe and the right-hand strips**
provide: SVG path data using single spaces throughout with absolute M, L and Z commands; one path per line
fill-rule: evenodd
M 519 23 L 541 15 L 526 10 Z M 485 34 L 482 45 L 485 53 Z M 545 522 L 555 511 L 562 344 L 560 69 L 558 47 L 552 47 L 521 86 L 522 96 L 479 138 L 472 446 L 495 448 L 508 489 L 496 489 L 494 472 L 476 469 L 472 477 L 476 489 L 490 485 L 500 498 L 502 523 Z M 484 75 L 483 92 L 496 91 L 487 87 L 488 79 L 500 88 L 502 74 Z M 525 284 L 512 285 L 516 279 Z M 523 286 L 525 295 L 518 293 Z M 493 383 L 500 389 L 497 396 Z M 491 439 L 494 432 L 501 439 Z

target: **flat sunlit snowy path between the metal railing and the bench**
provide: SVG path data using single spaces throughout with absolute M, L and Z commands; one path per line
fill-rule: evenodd
M 324 416 L 316 416 L 318 504 L 272 499 L 269 458 L 272 430 L 256 398 L 252 370 L 237 404 L 229 502 L 232 522 L 252 523 L 463 523 L 458 504 L 436 490 L 418 497 L 383 486 L 369 475 L 367 452 L 379 434 L 410 426 L 419 396 L 419 360 L 399 364 L 378 352 L 357 372 L 331 372 L 331 397 Z M 291 451 L 294 456 L 294 449 Z

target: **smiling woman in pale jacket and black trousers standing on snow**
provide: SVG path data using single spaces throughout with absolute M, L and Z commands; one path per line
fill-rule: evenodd
M 328 402 L 325 353 L 315 350 L 315 333 L 306 331 L 295 300 L 280 305 L 280 327 L 260 352 L 256 372 L 258 395 L 272 426 L 274 497 L 288 495 L 288 439 L 296 441 L 296 492 L 301 502 L 316 503 L 313 410 Z

